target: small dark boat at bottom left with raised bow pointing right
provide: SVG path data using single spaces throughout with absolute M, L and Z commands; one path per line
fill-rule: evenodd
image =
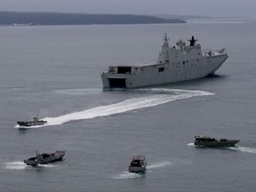
M 32 156 L 26 160 L 24 160 L 25 164 L 36 166 L 37 164 L 48 164 L 56 161 L 61 161 L 63 156 L 65 156 L 65 151 L 63 150 L 56 150 L 53 153 L 43 153 L 37 154 L 36 156 Z

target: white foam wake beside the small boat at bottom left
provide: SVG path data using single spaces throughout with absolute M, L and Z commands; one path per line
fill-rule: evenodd
M 2 169 L 7 169 L 7 170 L 25 170 L 25 169 L 41 169 L 41 168 L 50 168 L 50 167 L 56 167 L 58 166 L 57 164 L 40 164 L 35 167 L 29 166 L 27 164 L 24 164 L 21 161 L 17 162 L 8 162 L 4 163 L 2 166 Z

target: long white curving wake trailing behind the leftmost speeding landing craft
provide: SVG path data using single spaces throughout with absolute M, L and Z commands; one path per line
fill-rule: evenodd
M 144 96 L 139 98 L 133 98 L 130 100 L 124 100 L 122 102 L 99 106 L 96 108 L 90 108 L 83 111 L 70 113 L 64 116 L 57 117 L 45 117 L 44 121 L 47 124 L 40 126 L 33 126 L 29 128 L 39 128 L 42 126 L 60 125 L 71 121 L 92 119 L 101 116 L 112 116 L 120 113 L 125 113 L 134 109 L 149 108 L 157 105 L 161 105 L 173 100 L 182 100 L 196 96 L 212 95 L 211 92 L 202 91 L 188 91 L 188 90 L 177 90 L 177 89 L 137 89 L 135 92 L 148 92 L 150 96 Z M 16 128 L 19 126 L 15 126 Z

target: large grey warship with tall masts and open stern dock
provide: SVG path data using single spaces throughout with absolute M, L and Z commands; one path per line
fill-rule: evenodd
M 103 88 L 136 88 L 210 76 L 228 59 L 225 48 L 202 52 L 194 36 L 188 41 L 187 45 L 180 39 L 170 47 L 165 34 L 156 62 L 109 66 L 101 74 Z

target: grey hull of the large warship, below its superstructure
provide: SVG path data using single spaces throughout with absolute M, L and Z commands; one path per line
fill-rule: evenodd
M 104 88 L 136 88 L 156 84 L 170 84 L 210 76 L 228 59 L 228 55 L 203 57 L 200 60 L 174 61 L 164 64 L 150 64 L 142 67 L 118 66 L 128 71 L 137 68 L 136 73 L 102 73 Z M 129 69 L 131 68 L 131 69 Z

